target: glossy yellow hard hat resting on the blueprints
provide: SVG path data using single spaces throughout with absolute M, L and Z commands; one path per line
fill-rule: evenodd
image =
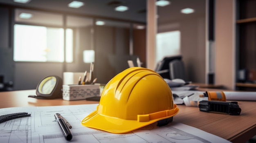
M 155 71 L 132 67 L 113 77 L 86 127 L 122 134 L 157 122 L 166 125 L 179 112 L 168 84 Z

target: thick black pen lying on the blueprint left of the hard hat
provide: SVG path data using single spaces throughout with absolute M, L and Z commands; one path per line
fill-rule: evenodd
M 67 125 L 65 124 L 65 121 L 62 119 L 61 114 L 54 114 L 55 120 L 58 122 L 58 125 L 61 128 L 61 131 L 63 133 L 63 135 L 65 136 L 65 139 L 67 141 L 70 141 L 72 139 L 72 134 L 70 132 L 70 129 L 67 128 Z

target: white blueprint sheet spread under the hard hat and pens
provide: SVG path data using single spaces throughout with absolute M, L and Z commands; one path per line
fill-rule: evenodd
M 0 123 L 1 143 L 229 143 L 213 134 L 175 121 L 158 127 L 155 123 L 127 134 L 112 134 L 87 128 L 81 121 L 98 104 L 45 107 L 14 107 L 0 109 L 0 115 L 28 112 L 31 117 Z M 54 119 L 59 113 L 72 125 L 73 138 L 66 141 Z M 179 114 L 179 113 L 178 113 Z

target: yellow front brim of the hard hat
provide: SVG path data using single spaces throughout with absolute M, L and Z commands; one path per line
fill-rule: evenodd
M 153 119 L 148 122 L 139 122 L 136 120 L 124 120 L 115 117 L 108 117 L 99 114 L 97 110 L 95 110 L 83 119 L 82 125 L 84 125 L 85 127 L 95 128 L 110 133 L 124 134 L 132 130 L 136 130 L 146 125 L 149 125 L 151 123 L 155 123 L 159 120 L 173 117 L 175 114 L 179 112 L 179 108 L 177 108 L 176 105 L 175 108 L 176 110 L 174 114 L 160 119 Z

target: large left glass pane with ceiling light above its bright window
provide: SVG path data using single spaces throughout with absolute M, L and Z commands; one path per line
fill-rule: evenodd
M 14 61 L 64 62 L 65 57 L 66 62 L 73 62 L 73 29 L 64 31 L 63 15 L 15 9 L 15 22 Z

